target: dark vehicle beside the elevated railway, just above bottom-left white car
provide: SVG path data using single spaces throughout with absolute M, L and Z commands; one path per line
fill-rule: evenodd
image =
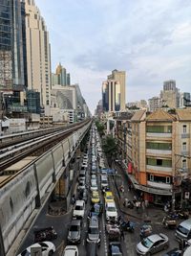
M 57 233 L 53 228 L 53 226 L 34 230 L 33 234 L 34 234 L 34 243 L 43 242 L 43 241 L 52 241 L 57 238 Z

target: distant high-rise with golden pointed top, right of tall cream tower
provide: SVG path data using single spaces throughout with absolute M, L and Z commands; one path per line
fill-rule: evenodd
M 66 68 L 64 68 L 61 63 L 59 63 L 56 67 L 55 74 L 52 74 L 52 81 L 54 84 L 59 84 L 62 86 L 71 85 L 71 77 L 70 73 L 66 72 Z

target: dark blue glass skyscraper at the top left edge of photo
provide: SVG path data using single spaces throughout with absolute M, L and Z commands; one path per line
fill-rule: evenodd
M 22 13 L 20 0 L 0 1 L 0 88 L 24 88 Z

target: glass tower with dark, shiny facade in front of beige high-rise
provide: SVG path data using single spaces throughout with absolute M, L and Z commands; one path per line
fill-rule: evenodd
M 120 84 L 115 80 L 108 80 L 102 83 L 103 110 L 115 112 L 120 109 Z

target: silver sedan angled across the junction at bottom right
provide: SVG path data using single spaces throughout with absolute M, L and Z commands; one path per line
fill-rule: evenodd
M 164 234 L 154 234 L 144 238 L 137 245 L 138 255 L 152 255 L 161 250 L 167 249 L 169 246 L 168 237 Z

